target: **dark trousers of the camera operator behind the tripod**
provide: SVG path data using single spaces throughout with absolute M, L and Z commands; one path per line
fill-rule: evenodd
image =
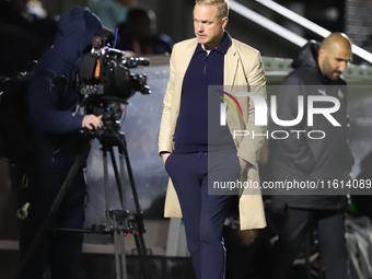
M 21 259 L 26 255 L 50 206 L 53 205 L 66 172 L 33 171 L 30 173 L 28 201 L 31 211 L 20 222 Z M 65 199 L 59 207 L 54 225 L 59 228 L 82 229 L 84 222 L 85 179 L 83 171 L 74 177 Z M 77 278 L 82 260 L 82 233 L 46 231 L 43 242 L 37 246 L 27 264 L 26 278 L 40 279 L 50 267 L 53 279 Z

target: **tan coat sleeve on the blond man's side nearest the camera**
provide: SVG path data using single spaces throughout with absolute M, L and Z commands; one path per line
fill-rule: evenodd
M 173 150 L 173 131 L 171 128 L 171 107 L 173 100 L 173 92 L 175 85 L 175 57 L 176 57 L 176 46 L 173 48 L 170 61 L 170 81 L 166 86 L 166 93 L 163 100 L 163 114 L 160 123 L 159 132 L 159 153 L 160 152 L 172 152 Z

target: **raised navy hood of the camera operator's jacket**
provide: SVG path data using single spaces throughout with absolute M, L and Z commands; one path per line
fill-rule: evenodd
M 101 30 L 100 19 L 85 7 L 74 7 L 58 21 L 54 46 L 39 59 L 37 69 L 47 69 L 67 79 L 79 70 L 83 50 Z

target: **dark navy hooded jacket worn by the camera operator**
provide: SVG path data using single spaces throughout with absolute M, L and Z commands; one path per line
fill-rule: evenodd
M 34 69 L 36 73 L 47 70 L 56 77 L 66 78 L 67 85 L 58 89 L 53 79 L 43 74 L 35 74 L 30 82 L 31 133 L 36 151 L 32 168 L 68 171 L 79 153 L 82 144 L 79 129 L 84 116 L 74 113 L 81 97 L 77 73 L 83 50 L 101 27 L 100 19 L 86 8 L 74 7 L 63 13 L 58 22 L 54 46 Z

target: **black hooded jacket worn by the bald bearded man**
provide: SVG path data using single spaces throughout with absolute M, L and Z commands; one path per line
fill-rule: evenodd
M 340 78 L 336 81 L 323 75 L 317 65 L 319 44 L 309 42 L 293 60 L 294 70 L 284 79 L 277 95 L 277 115 L 281 120 L 292 120 L 298 116 L 299 96 L 304 100 L 303 119 L 294 126 L 282 127 L 271 121 L 269 130 L 286 130 L 288 139 L 270 140 L 270 171 L 274 182 L 297 181 L 315 182 L 326 185 L 334 179 L 348 181 L 353 158 L 348 144 L 349 124 L 347 117 L 347 88 Z M 334 126 L 322 114 L 314 114 L 313 126 L 307 119 L 309 96 L 336 97 L 340 107 L 332 116 L 340 126 Z M 330 102 L 314 102 L 315 108 L 333 107 Z M 293 132 L 301 130 L 302 132 Z M 311 139 L 311 137 L 323 139 Z M 292 132 L 291 132 L 292 131 Z M 309 136 L 309 132 L 310 136 Z M 300 135 L 300 136 L 299 136 Z M 321 186 L 319 186 L 321 187 Z M 342 209 L 347 206 L 345 195 L 322 195 L 313 189 L 301 189 L 300 195 L 272 196 L 275 207 L 290 206 L 295 208 Z M 286 194 L 286 191 L 281 191 Z M 304 194 L 304 195 L 302 195 Z M 321 194 L 321 195 L 317 195 Z M 329 194 L 329 193 L 327 193 Z M 336 191 L 330 193 L 336 194 Z

